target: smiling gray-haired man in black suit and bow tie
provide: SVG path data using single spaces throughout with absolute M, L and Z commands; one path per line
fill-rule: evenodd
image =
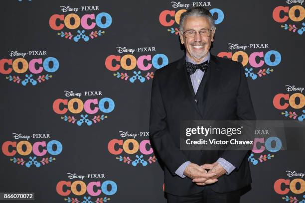
M 186 54 L 154 73 L 150 139 L 169 203 L 238 203 L 251 184 L 247 151 L 179 150 L 180 120 L 256 119 L 242 64 L 210 55 L 215 29 L 203 7 L 182 13 Z

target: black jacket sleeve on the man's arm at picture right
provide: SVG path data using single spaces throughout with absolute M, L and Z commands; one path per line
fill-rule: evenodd
M 248 87 L 248 82 L 245 76 L 245 70 L 241 63 L 240 63 L 240 83 L 239 83 L 236 100 L 237 100 L 237 119 L 256 120 L 253 104 L 251 101 L 250 91 Z M 247 150 L 224 151 L 221 157 L 227 160 L 228 162 L 230 162 L 233 166 L 236 167 L 236 170 L 238 170 L 247 153 L 248 153 Z

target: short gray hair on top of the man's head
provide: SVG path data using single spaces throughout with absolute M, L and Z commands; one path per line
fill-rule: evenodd
M 193 7 L 190 8 L 188 10 L 186 10 L 185 12 L 183 12 L 180 16 L 180 26 L 179 26 L 179 30 L 183 32 L 183 24 L 184 24 L 184 20 L 187 16 L 203 16 L 206 17 L 209 22 L 210 22 L 210 26 L 211 28 L 215 27 L 214 24 L 214 19 L 213 19 L 213 15 L 210 13 L 210 11 L 202 6 L 198 6 L 198 7 Z

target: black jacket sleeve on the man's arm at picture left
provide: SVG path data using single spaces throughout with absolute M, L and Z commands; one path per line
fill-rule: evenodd
M 161 158 L 172 176 L 176 176 L 175 171 L 188 159 L 175 145 L 170 136 L 157 72 L 154 73 L 152 81 L 150 140 L 154 152 Z

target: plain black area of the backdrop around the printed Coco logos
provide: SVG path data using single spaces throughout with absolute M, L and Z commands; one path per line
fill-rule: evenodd
M 137 143 L 149 139 L 148 136 L 140 136 L 140 133 L 148 132 L 150 92 L 153 71 L 156 68 L 152 67 L 150 70 L 144 71 L 139 69 L 138 64 L 133 70 L 125 70 L 121 67 L 117 71 L 111 71 L 106 68 L 105 61 L 111 55 L 121 56 L 122 58 L 124 55 L 131 54 L 138 59 L 143 55 L 150 55 L 153 58 L 157 54 L 162 54 L 163 60 L 159 58 L 153 62 L 154 65 L 156 63 L 161 65 L 164 61 L 166 63 L 166 58 L 169 63 L 180 58 L 183 55 L 183 49 L 179 44 L 178 35 L 175 32 L 170 32 L 171 28 L 173 30 L 178 28 L 178 24 L 173 23 L 171 26 L 163 26 L 159 21 L 159 15 L 164 10 L 176 12 L 185 9 L 185 5 L 182 5 L 184 7 L 174 6 L 180 1 L 175 2 L 164 0 L 1 1 L 0 69 L 3 65 L 3 70 L 1 69 L 0 72 L 0 143 L 2 145 L 0 192 L 35 192 L 35 201 L 39 203 L 69 202 L 68 198 L 77 198 L 79 202 L 83 202 L 84 197 L 87 198 L 88 196 L 91 197 L 92 202 L 95 202 L 97 198 L 104 197 L 110 198 L 109 201 L 111 202 L 165 202 L 162 189 L 163 171 L 159 164 L 154 162 L 153 153 L 145 154 L 145 151 L 150 149 L 149 144 L 144 145 L 144 148 L 143 145 L 142 148 L 140 146 L 142 151 L 139 150 L 134 154 L 129 154 L 127 150 L 124 150 L 121 154 L 115 155 L 108 149 L 108 143 L 113 139 L 123 141 L 134 139 Z M 181 4 L 188 3 L 190 4 L 189 8 L 193 6 L 193 2 L 196 1 L 185 0 Z M 302 97 L 296 99 L 297 104 L 301 102 L 301 105 L 297 108 L 290 105 L 286 109 L 278 109 L 273 101 L 278 94 L 289 94 L 291 96 L 298 93 L 303 95 L 302 89 L 294 91 L 287 89 L 288 86 L 304 87 L 304 40 L 302 34 L 305 24 L 302 23 L 304 23 L 305 11 L 303 4 L 300 2 L 290 3 L 285 0 L 247 2 L 241 0 L 211 0 L 202 2 L 202 4 L 204 3 L 208 9 L 218 8 L 216 9 L 217 12 L 214 13 L 215 19 L 221 18 L 219 10 L 224 14 L 223 20 L 216 24 L 215 41 L 211 48 L 212 54 L 217 55 L 221 52 L 232 52 L 234 54 L 243 51 L 250 56 L 254 52 L 263 52 L 263 55 L 265 55 L 268 51 L 274 50 L 281 55 L 281 60 L 278 61 L 279 64 L 276 66 L 269 66 L 268 63 L 265 63 L 263 66 L 256 68 L 251 66 L 254 64 L 253 61 L 252 64 L 245 65 L 248 70 L 253 68 L 252 72 L 257 76 L 255 80 L 250 77 L 250 74 L 248 76 L 257 118 L 259 120 L 298 120 L 299 118 L 299 120 L 302 120 L 302 115 L 305 114 L 305 111 L 303 111 L 304 96 L 303 99 Z M 66 8 L 70 6 L 70 8 L 79 8 L 79 10 L 76 13 L 75 11 L 64 12 L 61 10 L 63 8 L 61 6 Z M 90 8 L 92 6 L 97 8 L 98 6 L 98 10 L 81 10 L 81 6 L 90 6 Z M 293 14 L 296 17 L 300 16 L 298 21 L 290 14 L 292 17 L 289 16 L 287 21 L 277 22 L 273 17 L 274 9 L 277 6 L 289 6 L 289 8 L 297 6 L 294 7 L 298 9 Z M 49 19 L 54 14 L 67 16 L 70 13 L 75 13 L 81 18 L 85 14 L 94 14 L 95 17 L 103 12 L 108 13 L 112 20 L 111 25 L 106 28 L 100 28 L 96 25 L 94 28 L 87 30 L 80 25 L 76 29 L 69 29 L 65 26 L 61 30 L 54 30 L 49 25 Z M 285 15 L 289 15 L 288 11 L 287 13 L 281 11 L 279 18 L 283 18 Z M 174 17 L 167 15 L 165 18 L 167 22 L 170 19 L 174 19 Z M 105 21 L 106 17 L 104 15 L 102 24 L 105 24 Z M 61 22 L 63 23 L 63 21 L 57 19 L 56 25 Z M 88 22 L 90 25 L 95 20 L 89 19 Z M 77 22 L 71 20 L 70 23 L 73 25 Z M 285 26 L 291 26 L 292 30 L 285 29 Z M 78 34 L 77 30 L 85 30 L 84 33 L 87 36 L 85 38 L 89 40 L 84 41 L 81 38 L 78 42 L 75 42 L 73 37 Z M 98 35 L 99 30 L 101 30 L 100 35 Z M 70 35 L 67 38 L 62 37 L 61 31 L 64 34 L 67 32 L 68 35 L 70 32 L 70 35 L 73 35 L 72 38 L 69 39 Z M 91 35 L 91 38 L 89 34 L 92 31 L 93 34 L 95 34 L 94 31 L 97 32 L 96 36 Z M 245 45 L 247 48 L 235 47 L 233 49 L 232 44 Z M 259 44 L 260 47 L 250 48 L 251 44 Z M 119 53 L 118 47 L 135 49 L 135 51 L 133 53 Z M 142 52 L 139 52 L 138 48 L 143 47 L 151 47 L 151 50 L 143 49 Z M 11 51 L 26 53 L 26 55 L 24 57 L 13 56 Z M 31 51 L 41 51 L 41 53 L 36 52 L 38 55 L 32 56 Z M 43 51 L 46 51 L 45 55 L 43 55 Z M 8 64 L 9 61 L 6 63 L 6 59 L 14 61 L 17 58 L 23 58 L 29 63 L 32 59 L 41 58 L 44 61 L 48 57 L 54 57 L 58 60 L 59 68 L 55 72 L 47 72 L 46 68 L 41 73 L 31 73 L 30 69 L 23 69 L 26 70 L 24 73 L 17 73 L 15 70 L 22 70 L 22 65 L 19 63 L 19 66 L 17 65 L 17 68 L 15 67 L 11 73 L 4 73 L 5 70 L 10 70 L 9 68 L 12 67 L 11 62 L 10 65 Z M 256 57 L 256 63 L 266 59 L 264 57 L 259 58 Z M 238 60 L 241 62 L 242 57 L 238 57 Z M 266 60 L 268 61 L 268 59 Z M 273 55 L 270 60 L 274 62 L 276 57 Z M 127 60 L 127 67 L 131 67 L 130 61 Z M 152 63 L 152 61 L 145 60 L 144 66 L 147 66 L 148 63 Z M 120 64 L 120 62 L 113 60 L 112 66 L 116 64 Z M 54 66 L 54 63 L 51 62 L 49 66 Z M 23 64 L 24 67 L 26 67 L 26 64 Z M 39 65 L 36 64 L 35 67 L 38 69 Z M 259 71 L 268 72 L 268 68 L 273 69 L 273 71 L 260 76 Z M 137 71 L 136 74 L 141 71 L 140 75 L 145 78 L 145 82 L 142 83 L 140 80 L 131 82 L 129 79 L 135 75 L 134 71 Z M 121 74 L 125 73 L 126 75 L 121 79 Z M 27 76 L 32 74 L 32 81 L 36 81 L 37 84 L 32 85 L 28 82 L 25 86 L 22 85 L 22 81 L 26 79 L 26 74 Z M 51 77 L 43 81 L 41 77 L 48 77 L 46 74 L 51 75 Z M 117 77 L 117 74 L 120 76 Z M 128 76 L 127 80 L 125 80 L 126 76 Z M 64 91 L 73 91 L 74 93 L 82 93 L 82 95 L 80 97 L 68 97 Z M 85 92 L 92 91 L 97 93 L 101 91 L 102 95 L 85 96 Z M 99 110 L 93 114 L 85 112 L 85 110 L 78 113 L 72 113 L 68 110 L 64 114 L 58 114 L 53 110 L 53 102 L 57 99 L 71 100 L 72 98 L 78 98 L 82 102 L 88 99 L 100 101 L 103 98 L 110 98 L 114 101 L 115 106 L 111 112 L 101 112 Z M 284 99 L 282 99 L 280 104 L 283 105 L 284 102 Z M 105 104 L 104 108 L 111 108 L 109 102 L 103 104 Z M 92 110 L 94 106 L 98 105 L 91 104 Z M 67 107 L 67 105 L 59 105 L 60 109 L 64 107 Z M 69 107 L 73 108 L 73 104 Z M 74 104 L 75 109 L 78 107 Z M 86 123 L 81 126 L 77 124 L 81 114 L 88 114 L 87 118 L 92 122 L 90 126 Z M 289 114 L 292 114 L 292 116 L 289 116 Z M 65 119 L 64 116 L 74 117 L 70 117 L 71 119 L 66 117 Z M 98 120 L 98 117 L 94 116 L 107 117 Z M 94 122 L 94 119 L 96 122 Z M 126 134 L 126 132 L 137 134 L 137 136 L 135 138 L 120 136 Z M 38 141 L 45 141 L 47 144 L 50 140 L 57 140 L 62 144 L 62 151 L 58 155 L 52 155 L 49 152 L 44 156 L 35 156 L 36 154 L 33 154 L 33 152 L 22 155 L 22 152 L 20 154 L 19 151 L 22 151 L 22 149 L 26 151 L 25 146 L 23 146 L 22 149 L 17 150 L 15 155 L 7 156 L 3 152 L 4 143 L 7 143 L 7 141 L 18 143 L 26 140 L 24 138 L 15 139 L 14 133 L 31 136 L 27 140 L 31 145 Z M 50 136 L 49 138 L 39 138 L 33 136 L 33 134 L 49 134 Z M 131 144 L 129 146 L 130 149 L 133 148 Z M 116 144 L 114 148 L 114 150 L 118 150 L 119 145 Z M 144 150 L 145 148 L 147 150 Z M 41 152 L 42 149 L 45 149 L 45 147 L 40 146 L 39 151 Z M 56 147 L 53 146 L 53 150 L 55 149 Z M 12 150 L 11 146 L 8 147 L 8 151 Z M 133 161 L 137 159 L 136 155 L 143 155 L 142 159 L 146 160 L 147 166 L 143 166 L 141 163 L 133 166 Z M 286 199 L 290 197 L 296 197 L 298 201 L 305 199 L 303 197 L 305 185 L 300 184 L 304 183 L 304 177 L 290 177 L 287 172 L 304 173 L 304 152 L 269 152 L 265 150 L 259 154 L 254 153 L 253 157 L 259 160 L 261 155 L 267 156 L 266 161 L 261 158 L 261 161 L 256 165 L 250 162 L 253 178 L 252 190 L 242 197 L 242 202 L 286 202 Z M 41 166 L 26 167 L 26 162 L 34 156 L 36 161 L 41 163 Z M 52 157 L 51 159 L 55 158 L 55 160 L 48 163 L 42 161 L 42 158 L 50 157 Z M 23 161 L 20 161 L 20 158 Z M 124 162 L 124 159 L 127 160 Z M 129 162 L 128 159 L 131 159 L 131 161 Z M 74 182 L 80 180 L 79 178 L 69 179 L 68 173 L 84 175 L 85 178 L 82 181 L 86 185 L 92 181 L 101 183 L 113 181 L 117 185 L 117 190 L 113 195 L 104 193 L 104 188 L 99 196 L 92 196 L 87 192 L 83 195 L 76 195 L 72 192 L 68 196 L 61 196 L 56 191 L 56 186 L 60 181 Z M 104 174 L 105 178 L 88 178 L 87 174 Z M 296 190 L 295 192 L 290 190 L 287 194 L 277 193 L 274 184 L 279 179 L 290 180 L 290 182 L 294 179 L 303 180 L 303 182 L 299 180 L 299 183 L 296 184 L 297 191 L 301 191 L 301 194 L 296 193 Z M 285 188 L 289 189 L 290 187 L 282 184 L 282 190 Z M 69 188 L 64 187 L 63 191 L 67 189 Z M 94 191 L 97 189 L 96 187 Z M 77 190 L 80 191 L 80 186 L 77 187 Z M 115 187 L 108 186 L 106 190 L 114 191 Z M 102 201 L 102 199 L 99 200 Z

